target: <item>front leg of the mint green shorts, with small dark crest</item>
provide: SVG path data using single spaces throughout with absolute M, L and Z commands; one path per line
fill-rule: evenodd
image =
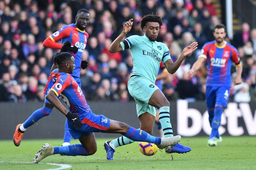
M 134 99 L 148 103 L 152 94 L 159 89 L 151 81 L 142 77 L 132 77 L 128 81 L 128 90 Z

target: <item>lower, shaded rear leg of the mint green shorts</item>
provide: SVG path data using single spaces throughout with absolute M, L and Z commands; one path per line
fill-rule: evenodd
M 152 116 L 156 117 L 156 108 L 154 106 L 151 106 L 138 99 L 135 99 L 135 102 L 136 102 L 136 110 L 137 110 L 138 117 L 140 117 L 140 115 L 144 113 L 149 113 Z

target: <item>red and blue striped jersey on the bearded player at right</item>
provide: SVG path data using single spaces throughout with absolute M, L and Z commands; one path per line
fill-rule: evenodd
M 240 66 L 237 49 L 227 43 L 218 46 L 215 41 L 204 44 L 199 57 L 204 58 L 208 64 L 207 86 L 231 87 L 232 62 Z

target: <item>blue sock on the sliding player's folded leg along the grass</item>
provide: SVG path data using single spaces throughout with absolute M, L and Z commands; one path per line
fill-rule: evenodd
M 87 151 L 82 144 L 73 144 L 64 147 L 53 147 L 53 154 L 64 154 L 68 156 L 87 156 Z

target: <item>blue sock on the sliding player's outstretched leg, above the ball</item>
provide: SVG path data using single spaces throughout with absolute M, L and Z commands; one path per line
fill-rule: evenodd
M 161 144 L 161 138 L 151 136 L 150 134 L 140 129 L 134 129 L 131 126 L 124 136 L 134 141 L 150 142 L 155 143 L 157 145 Z

